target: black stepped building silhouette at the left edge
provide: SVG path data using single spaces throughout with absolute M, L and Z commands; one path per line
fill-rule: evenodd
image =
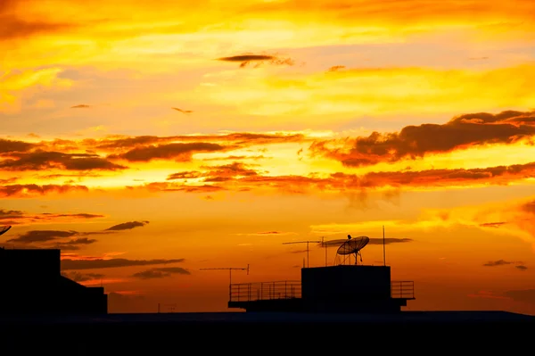
M 61 274 L 59 249 L 0 248 L 0 314 L 106 314 L 103 287 Z

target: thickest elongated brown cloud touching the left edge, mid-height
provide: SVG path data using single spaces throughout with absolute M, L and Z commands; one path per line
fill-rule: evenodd
M 9 156 L 11 158 L 0 161 L 0 170 L 126 170 L 128 168 L 93 153 L 36 151 L 9 153 Z

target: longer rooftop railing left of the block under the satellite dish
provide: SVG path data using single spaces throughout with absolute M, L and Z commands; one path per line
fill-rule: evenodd
M 230 302 L 300 298 L 300 281 L 243 283 L 230 286 Z

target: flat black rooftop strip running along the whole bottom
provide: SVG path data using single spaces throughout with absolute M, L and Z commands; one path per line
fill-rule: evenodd
M 395 315 L 162 313 L 0 317 L 3 348 L 16 354 L 512 352 L 535 317 L 503 311 L 404 311 Z M 523 336 L 525 335 L 525 336 Z M 194 349 L 192 349 L 192 347 Z M 462 349 L 459 349 L 462 347 Z M 15 353 L 6 353 L 15 354 Z

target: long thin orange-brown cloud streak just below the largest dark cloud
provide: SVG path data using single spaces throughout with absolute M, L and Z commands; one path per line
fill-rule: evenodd
M 221 169 L 218 170 L 217 167 Z M 366 190 L 376 187 L 402 189 L 411 186 L 506 185 L 524 178 L 535 178 L 535 162 L 468 170 L 380 171 L 360 176 L 337 172 L 326 177 L 319 177 L 316 174 L 309 176 L 268 176 L 236 162 L 226 166 L 202 168 L 205 171 L 177 172 L 167 178 L 183 182 L 152 182 L 137 187 L 147 188 L 151 191 L 193 193 L 236 189 L 247 191 L 255 187 L 273 188 L 287 194 L 334 191 L 353 196 L 357 192 L 358 196 L 353 196 L 355 199 L 352 199 L 352 202 L 358 203 L 360 206 L 366 201 Z M 191 178 L 204 178 L 205 183 L 212 184 L 194 186 L 186 182 L 187 179 Z M 133 189 L 134 187 L 128 188 Z M 399 191 L 396 194 L 399 195 Z M 530 204 L 526 204 L 523 209 L 530 211 L 533 208 Z M 498 223 L 486 224 L 482 226 L 498 227 Z

